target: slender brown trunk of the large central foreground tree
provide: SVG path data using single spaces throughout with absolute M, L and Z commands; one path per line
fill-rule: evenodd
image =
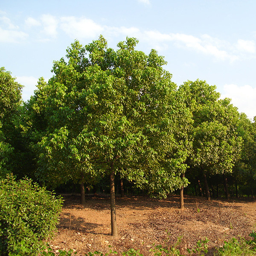
M 110 169 L 110 209 L 111 209 L 111 236 L 118 236 L 116 224 L 116 198 L 115 198 L 115 173 L 113 163 Z

